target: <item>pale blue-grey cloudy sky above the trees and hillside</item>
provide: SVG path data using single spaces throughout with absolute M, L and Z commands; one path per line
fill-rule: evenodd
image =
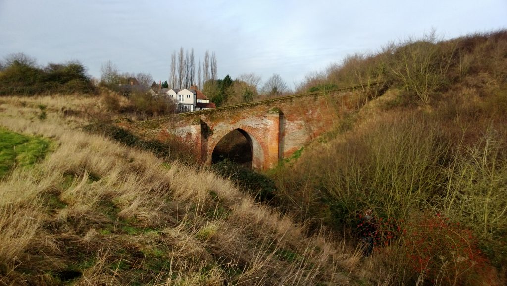
M 216 53 L 219 78 L 279 74 L 289 84 L 353 53 L 421 37 L 507 27 L 507 0 L 147 1 L 0 0 L 0 57 L 79 60 L 94 77 L 121 71 L 169 77 L 170 55 Z

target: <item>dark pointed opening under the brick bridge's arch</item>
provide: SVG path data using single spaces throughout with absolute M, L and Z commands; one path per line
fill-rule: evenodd
M 222 137 L 211 153 L 211 164 L 226 159 L 247 168 L 260 169 L 264 154 L 255 137 L 237 128 Z

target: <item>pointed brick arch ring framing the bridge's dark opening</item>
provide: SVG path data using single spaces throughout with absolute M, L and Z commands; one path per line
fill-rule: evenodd
M 268 154 L 267 142 L 263 140 L 262 134 L 259 131 L 250 126 L 234 126 L 228 128 L 216 128 L 213 130 L 213 134 L 207 138 L 208 142 L 208 154 L 207 162 L 211 163 L 211 157 L 216 146 L 220 140 L 224 138 L 230 132 L 238 130 L 246 137 L 246 140 L 250 144 L 251 155 L 252 155 L 252 168 L 253 169 L 265 169 L 266 155 Z

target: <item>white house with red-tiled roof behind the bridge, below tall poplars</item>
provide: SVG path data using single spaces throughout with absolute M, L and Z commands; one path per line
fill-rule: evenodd
M 182 113 L 215 108 L 215 104 L 210 103 L 209 99 L 197 89 L 197 86 L 182 89 L 162 88 L 160 92 L 175 100 L 178 104 L 178 111 Z

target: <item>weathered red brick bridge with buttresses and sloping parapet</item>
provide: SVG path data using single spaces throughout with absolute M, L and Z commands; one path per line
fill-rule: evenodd
M 238 130 L 250 144 L 252 168 L 266 170 L 330 130 L 341 114 L 355 109 L 354 94 L 352 88 L 306 93 L 127 125 L 143 137 L 164 140 L 177 135 L 192 144 L 200 161 L 207 164 L 220 140 Z

